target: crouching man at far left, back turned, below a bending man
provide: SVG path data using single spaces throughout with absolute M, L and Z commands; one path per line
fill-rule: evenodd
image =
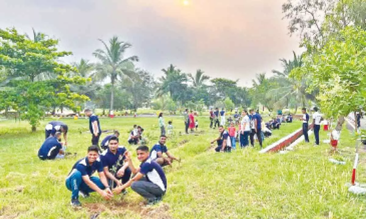
M 41 160 L 53 160 L 57 158 L 63 158 L 65 151 L 62 150 L 61 132 L 56 132 L 55 136 L 47 138 L 41 148 L 38 150 L 38 157 Z

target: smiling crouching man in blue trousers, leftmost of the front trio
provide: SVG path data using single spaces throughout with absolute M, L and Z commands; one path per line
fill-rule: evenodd
M 88 147 L 86 157 L 78 160 L 66 178 L 66 187 L 72 192 L 71 205 L 81 206 L 79 192 L 88 197 L 90 192 L 98 192 L 104 199 L 111 199 L 113 193 L 108 187 L 107 178 L 103 172 L 103 165 L 99 158 L 98 146 Z M 91 176 L 98 171 L 99 178 Z

